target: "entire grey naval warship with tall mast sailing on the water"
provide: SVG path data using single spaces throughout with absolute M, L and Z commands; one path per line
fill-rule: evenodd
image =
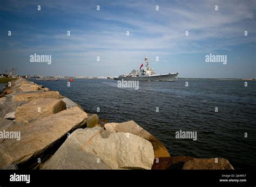
M 119 75 L 118 77 L 113 77 L 114 80 L 125 80 L 125 81 L 173 81 L 177 79 L 178 73 L 166 73 L 166 74 L 156 74 L 154 69 L 149 66 L 149 61 L 147 57 L 144 57 L 145 68 L 143 63 L 140 66 L 140 70 L 133 69 L 130 74 Z

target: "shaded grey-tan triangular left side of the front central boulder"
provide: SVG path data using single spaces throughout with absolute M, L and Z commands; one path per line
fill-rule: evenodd
M 85 152 L 80 146 L 80 142 L 91 139 L 101 130 L 101 128 L 93 128 L 87 134 L 76 130 L 40 169 L 111 169 L 97 156 Z

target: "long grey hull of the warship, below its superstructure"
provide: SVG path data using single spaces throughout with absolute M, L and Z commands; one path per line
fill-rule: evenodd
M 119 76 L 114 77 L 114 80 L 124 80 L 124 81 L 173 81 L 178 76 L 176 74 L 165 74 L 165 75 L 154 75 L 154 76 L 137 76 L 137 77 L 126 77 Z

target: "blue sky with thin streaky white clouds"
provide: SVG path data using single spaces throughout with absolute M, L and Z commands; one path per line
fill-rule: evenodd
M 146 55 L 156 74 L 256 78 L 255 9 L 255 0 L 0 0 L 0 74 L 118 76 Z M 35 53 L 51 63 L 30 62 Z M 227 63 L 206 62 L 210 54 Z

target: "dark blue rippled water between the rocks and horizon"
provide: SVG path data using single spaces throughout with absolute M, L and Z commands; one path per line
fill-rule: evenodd
M 245 81 L 225 80 L 139 82 L 138 90 L 117 88 L 113 80 L 75 79 L 71 87 L 67 81 L 34 80 L 80 103 L 87 112 L 97 113 L 99 107 L 100 118 L 136 121 L 171 155 L 224 157 L 235 169 L 256 167 L 255 81 L 247 81 L 248 87 Z M 179 130 L 197 131 L 197 141 L 176 139 Z

